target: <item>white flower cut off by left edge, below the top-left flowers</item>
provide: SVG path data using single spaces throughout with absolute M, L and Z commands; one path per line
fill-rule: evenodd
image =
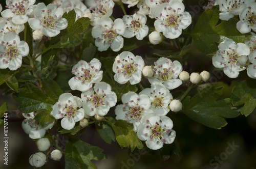
M 29 54 L 29 45 L 14 32 L 7 32 L 0 42 L 0 69 L 17 70 L 22 66 L 22 57 Z

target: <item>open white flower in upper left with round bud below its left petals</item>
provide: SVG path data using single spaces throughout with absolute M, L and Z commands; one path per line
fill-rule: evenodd
M 47 37 L 55 37 L 60 30 L 66 29 L 68 20 L 61 18 L 63 8 L 57 8 L 54 4 L 46 6 L 44 3 L 38 3 L 33 9 L 34 18 L 29 18 L 28 22 L 33 30 L 40 30 Z

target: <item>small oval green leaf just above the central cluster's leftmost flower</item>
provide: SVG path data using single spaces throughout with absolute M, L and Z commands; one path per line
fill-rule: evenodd
M 63 93 L 58 83 L 52 79 L 43 79 L 42 87 L 44 88 L 47 96 L 53 101 L 57 102 L 59 96 Z

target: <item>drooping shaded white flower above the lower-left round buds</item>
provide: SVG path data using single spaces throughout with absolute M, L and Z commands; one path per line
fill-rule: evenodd
M 38 139 L 46 134 L 46 130 L 51 129 L 54 125 L 54 121 L 49 122 L 45 126 L 41 126 L 37 121 L 34 120 L 34 117 L 37 113 L 30 112 L 28 114 L 23 114 L 25 117 L 22 122 L 22 128 L 26 134 L 29 134 L 29 137 L 32 139 Z

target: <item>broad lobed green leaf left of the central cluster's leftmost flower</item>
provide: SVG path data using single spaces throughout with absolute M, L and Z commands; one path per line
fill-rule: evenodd
M 31 83 L 26 83 L 25 90 L 19 90 L 19 93 L 13 94 L 13 98 L 21 102 L 18 110 L 29 113 L 36 110 L 51 109 L 55 104 L 42 91 Z

